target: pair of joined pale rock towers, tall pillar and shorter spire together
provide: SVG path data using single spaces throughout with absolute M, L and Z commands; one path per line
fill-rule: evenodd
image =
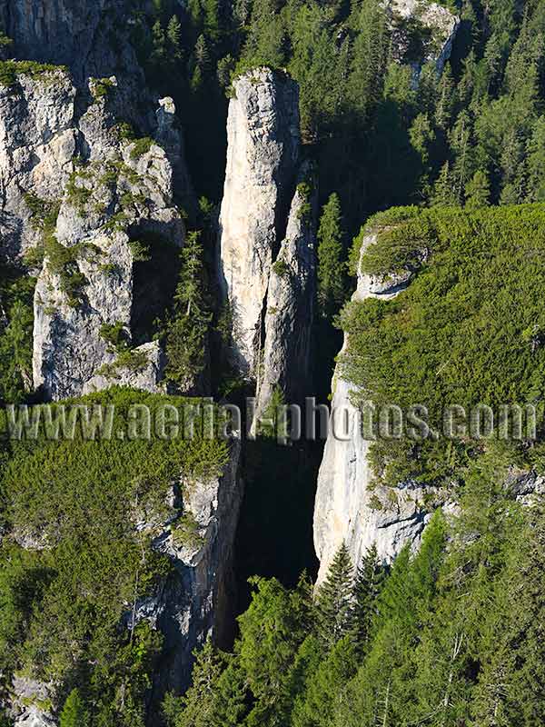
M 263 67 L 233 91 L 219 278 L 233 321 L 231 362 L 256 383 L 259 411 L 276 385 L 286 400 L 297 396 L 308 373 L 316 194 L 312 165 L 302 161 L 297 85 Z

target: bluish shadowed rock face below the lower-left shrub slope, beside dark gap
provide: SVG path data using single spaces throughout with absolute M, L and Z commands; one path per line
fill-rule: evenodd
M 163 527 L 154 549 L 173 563 L 173 573 L 154 598 L 137 604 L 127 625 L 147 619 L 163 633 L 168 650 L 155 677 L 158 693 L 187 688 L 193 649 L 209 633 L 227 647 L 232 638 L 235 583 L 234 536 L 243 498 L 239 476 L 240 442 L 233 440 L 223 474 L 203 481 L 183 482 L 181 516 Z

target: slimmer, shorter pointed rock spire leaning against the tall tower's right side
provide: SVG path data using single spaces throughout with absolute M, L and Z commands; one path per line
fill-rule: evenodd
M 256 421 L 274 389 L 286 402 L 310 394 L 311 333 L 316 288 L 316 181 L 302 166 L 292 200 L 286 236 L 272 264 L 264 319 L 263 364 L 257 373 Z

